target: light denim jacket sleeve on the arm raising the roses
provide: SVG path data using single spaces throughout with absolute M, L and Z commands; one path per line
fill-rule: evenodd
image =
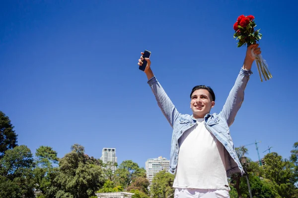
M 252 74 L 251 70 L 244 70 L 241 68 L 234 86 L 229 92 L 225 101 L 221 116 L 225 119 L 228 126 L 231 126 L 235 120 L 236 114 L 239 111 L 244 100 L 244 89 L 246 88 L 249 76 Z

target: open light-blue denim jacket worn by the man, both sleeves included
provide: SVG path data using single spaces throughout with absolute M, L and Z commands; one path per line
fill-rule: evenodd
M 204 118 L 204 124 L 207 130 L 224 145 L 227 177 L 238 172 L 240 172 L 241 175 L 244 174 L 234 148 L 229 126 L 231 126 L 234 122 L 235 116 L 244 100 L 244 89 L 251 74 L 252 72 L 250 70 L 244 70 L 241 68 L 235 84 L 225 101 L 223 110 L 219 114 L 207 114 Z M 193 115 L 180 114 L 177 111 L 155 76 L 149 79 L 148 84 L 151 87 L 161 112 L 173 128 L 169 172 L 174 174 L 178 163 L 178 139 L 181 137 L 183 132 L 195 126 L 196 119 L 193 118 Z

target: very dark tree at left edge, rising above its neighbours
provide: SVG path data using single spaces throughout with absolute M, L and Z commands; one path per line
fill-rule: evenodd
M 13 128 L 9 118 L 0 111 L 0 159 L 6 150 L 17 146 L 17 134 Z

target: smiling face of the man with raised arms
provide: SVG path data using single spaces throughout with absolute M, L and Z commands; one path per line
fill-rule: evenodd
M 190 108 L 194 118 L 204 118 L 206 114 L 210 113 L 211 108 L 215 105 L 215 102 L 211 100 L 211 95 L 206 89 L 197 89 L 193 92 Z

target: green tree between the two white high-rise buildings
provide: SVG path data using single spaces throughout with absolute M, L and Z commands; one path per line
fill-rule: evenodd
M 127 188 L 137 177 L 146 178 L 146 170 L 132 160 L 123 161 L 116 170 L 117 183 Z

